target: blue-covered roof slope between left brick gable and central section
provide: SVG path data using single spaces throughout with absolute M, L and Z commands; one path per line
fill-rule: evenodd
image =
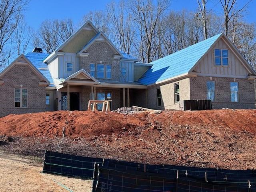
M 30 62 L 48 79 L 49 86 L 54 86 L 48 65 L 43 60 L 48 57 L 47 53 L 27 53 L 25 56 Z

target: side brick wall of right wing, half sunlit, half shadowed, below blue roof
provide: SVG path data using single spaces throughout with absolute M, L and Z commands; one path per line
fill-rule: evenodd
M 172 83 L 148 88 L 148 108 L 152 109 L 176 109 L 179 110 L 179 103 L 174 102 L 174 84 L 179 83 L 180 100 L 190 99 L 190 80 L 185 78 Z M 162 94 L 161 106 L 157 106 L 156 90 L 160 88 Z

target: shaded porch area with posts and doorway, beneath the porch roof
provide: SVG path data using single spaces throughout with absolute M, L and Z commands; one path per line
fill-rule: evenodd
M 143 90 L 67 84 L 57 91 L 58 110 L 87 110 L 89 100 L 112 100 L 110 110 L 123 106 L 144 106 L 144 104 L 139 104 L 143 101 L 138 96 L 138 92 L 143 92 Z M 137 96 L 140 98 L 137 99 Z M 146 98 L 144 99 L 146 101 Z M 101 110 L 101 107 L 99 105 L 97 110 Z

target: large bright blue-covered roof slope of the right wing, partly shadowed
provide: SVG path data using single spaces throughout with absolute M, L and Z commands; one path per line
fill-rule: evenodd
M 151 62 L 153 66 L 137 82 L 148 85 L 188 72 L 221 35 L 218 34 Z

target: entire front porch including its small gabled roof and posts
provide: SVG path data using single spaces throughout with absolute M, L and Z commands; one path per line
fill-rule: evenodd
M 143 90 L 145 94 L 140 98 L 138 92 Z M 82 69 L 62 80 L 58 85 L 57 108 L 58 110 L 87 110 L 89 100 L 112 100 L 110 110 L 115 110 L 122 106 L 138 105 L 138 102 L 146 101 L 145 90 L 146 86 L 137 83 L 99 82 Z

